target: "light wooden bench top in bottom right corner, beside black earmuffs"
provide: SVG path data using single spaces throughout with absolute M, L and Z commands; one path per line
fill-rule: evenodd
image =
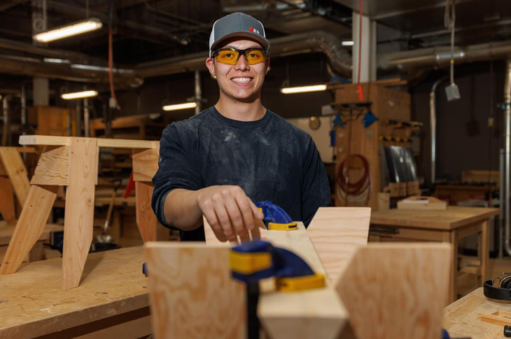
M 451 338 L 504 338 L 504 326 L 478 319 L 479 315 L 491 315 L 497 311 L 511 312 L 511 302 L 490 301 L 479 287 L 444 309 L 443 326 Z

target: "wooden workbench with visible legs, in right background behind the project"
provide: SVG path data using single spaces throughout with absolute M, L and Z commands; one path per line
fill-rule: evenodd
M 458 240 L 477 234 L 477 253 L 481 261 L 478 275 L 482 282 L 489 273 L 489 218 L 498 208 L 448 206 L 447 210 L 386 210 L 371 213 L 370 241 L 438 241 L 451 243 L 451 283 L 449 303 L 457 298 Z M 398 232 L 398 233 L 393 233 Z

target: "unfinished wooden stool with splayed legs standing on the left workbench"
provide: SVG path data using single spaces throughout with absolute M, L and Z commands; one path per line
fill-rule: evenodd
M 14 273 L 19 268 L 22 259 L 41 236 L 58 187 L 66 186 L 62 289 L 78 287 L 92 243 L 99 147 L 133 149 L 137 226 L 144 242 L 157 240 L 158 222 L 151 210 L 151 178 L 158 169 L 158 141 L 20 136 L 20 144 L 45 147 L 0 274 Z

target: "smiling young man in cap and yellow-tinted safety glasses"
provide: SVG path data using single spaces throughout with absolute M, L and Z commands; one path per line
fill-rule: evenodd
M 263 217 L 254 202 L 269 200 L 308 225 L 330 203 L 328 178 L 309 134 L 262 106 L 264 27 L 244 13 L 227 15 L 213 25 L 209 48 L 220 99 L 163 131 L 153 178 L 158 220 L 181 240 L 204 240 L 204 215 L 228 240 L 253 229 Z

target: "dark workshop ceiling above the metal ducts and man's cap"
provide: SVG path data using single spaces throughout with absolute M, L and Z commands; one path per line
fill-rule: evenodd
M 0 1 L 1 38 L 31 43 L 32 2 Z M 350 40 L 351 8 L 358 10 L 358 0 L 45 0 L 45 3 L 49 28 L 87 16 L 98 17 L 104 23 L 99 31 L 49 43 L 48 48 L 106 59 L 108 27 L 112 21 L 115 60 L 121 66 L 204 52 L 214 21 L 237 11 L 262 21 L 270 39 L 322 30 Z M 398 31 L 398 36 L 394 34 L 391 38 L 379 34 L 379 43 L 399 41 L 401 50 L 449 44 L 449 31 L 444 28 L 444 1 L 363 3 L 365 14 Z M 457 0 L 456 44 L 511 39 L 509 3 L 510 0 Z M 0 54 L 29 56 L 7 50 L 0 50 Z

